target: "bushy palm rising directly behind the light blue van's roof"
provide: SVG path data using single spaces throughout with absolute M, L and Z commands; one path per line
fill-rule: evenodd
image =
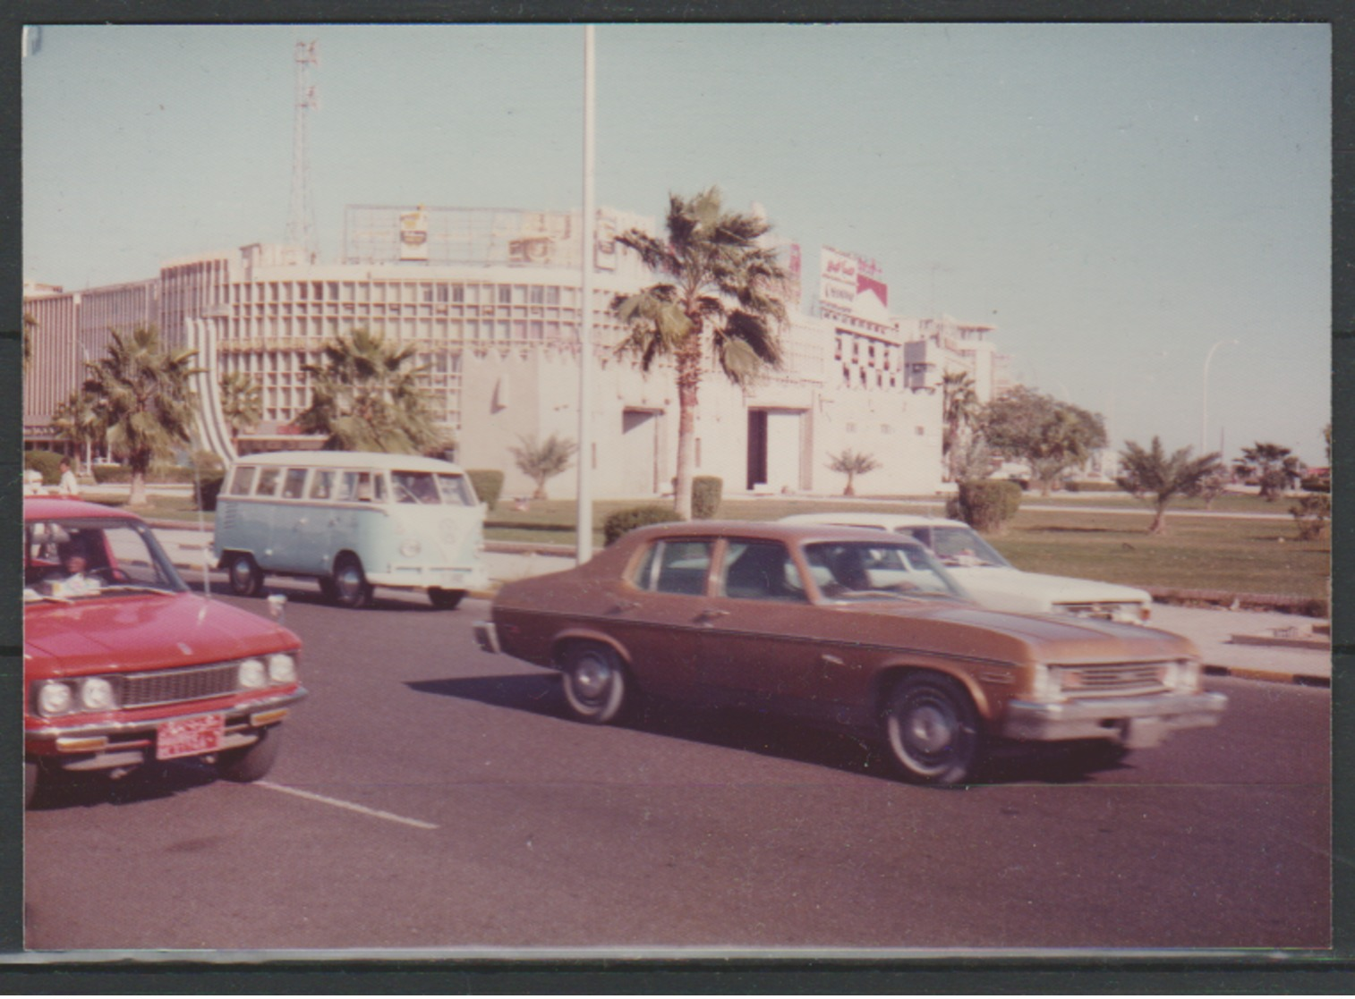
M 359 326 L 305 364 L 310 406 L 297 417 L 305 433 L 325 435 L 328 451 L 389 451 L 416 455 L 447 447 L 434 422 L 428 394 L 419 387 L 424 367 L 408 367 L 415 347 L 388 344 Z

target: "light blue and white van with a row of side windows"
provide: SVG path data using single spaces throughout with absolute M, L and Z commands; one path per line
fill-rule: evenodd
M 211 548 L 232 592 L 264 575 L 313 577 L 341 606 L 374 586 L 421 589 L 451 609 L 488 585 L 485 506 L 455 464 L 415 455 L 289 451 L 236 462 Z

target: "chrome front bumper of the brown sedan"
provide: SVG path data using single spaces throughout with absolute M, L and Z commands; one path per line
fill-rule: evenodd
M 1217 726 L 1228 708 L 1221 693 L 1107 697 L 1037 704 L 1011 701 L 1000 734 L 1028 742 L 1114 739 L 1130 749 L 1149 749 L 1168 732 Z

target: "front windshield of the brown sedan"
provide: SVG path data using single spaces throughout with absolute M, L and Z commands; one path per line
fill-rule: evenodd
M 959 583 L 920 544 L 817 541 L 805 546 L 805 562 L 820 593 L 829 600 L 967 598 Z

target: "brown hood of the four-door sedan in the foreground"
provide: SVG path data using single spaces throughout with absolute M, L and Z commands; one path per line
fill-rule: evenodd
M 844 613 L 875 617 L 873 640 L 897 636 L 901 647 L 925 648 L 982 659 L 1043 663 L 1108 663 L 1198 657 L 1180 635 L 1137 624 L 1118 624 L 1069 615 L 1019 615 L 972 604 L 936 601 L 934 606 L 863 601 L 843 605 Z M 886 619 L 893 619 L 885 624 Z

